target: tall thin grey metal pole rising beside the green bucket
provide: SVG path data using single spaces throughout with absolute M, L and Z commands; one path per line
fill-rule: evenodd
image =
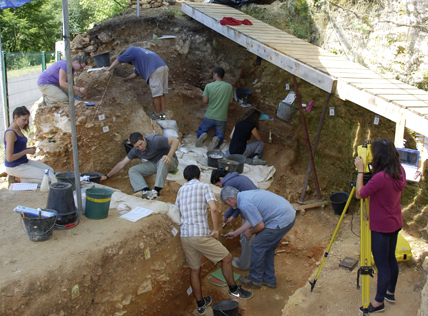
M 80 169 L 79 169 L 79 149 L 77 147 L 77 129 L 76 129 L 76 114 L 74 112 L 74 90 L 73 90 L 73 71 L 71 66 L 70 53 L 70 28 L 68 23 L 68 2 L 62 1 L 62 14 L 64 23 L 64 41 L 65 41 L 65 57 L 67 60 L 67 84 L 68 84 L 68 100 L 70 107 L 70 124 L 71 124 L 71 140 L 73 145 L 73 162 L 74 162 L 74 177 L 76 182 L 77 207 L 79 215 L 82 215 L 82 192 L 80 190 Z

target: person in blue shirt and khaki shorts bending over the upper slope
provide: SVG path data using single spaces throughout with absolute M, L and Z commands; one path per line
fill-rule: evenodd
M 135 67 L 134 73 L 126 78 L 124 81 L 132 80 L 140 76 L 146 80 L 150 85 L 152 91 L 153 105 L 155 111 L 150 115 L 153 119 L 165 119 L 165 94 L 168 93 L 168 72 L 169 69 L 165 62 L 156 53 L 132 46 L 128 48 L 123 54 L 117 56 L 117 59 L 106 71 L 112 70 L 119 63 L 130 63 Z

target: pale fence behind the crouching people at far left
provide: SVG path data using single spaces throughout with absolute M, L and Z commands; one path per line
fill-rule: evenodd
M 46 69 L 46 64 L 55 61 L 54 52 L 6 53 L 2 52 L 4 72 L 3 100 L 9 109 L 9 120 L 18 106 L 26 106 L 29 110 L 35 101 L 42 97 L 37 87 L 37 78 Z M 57 56 L 58 58 L 58 56 Z M 60 57 L 59 57 L 60 58 Z M 0 139 L 4 139 L 3 109 L 0 113 Z

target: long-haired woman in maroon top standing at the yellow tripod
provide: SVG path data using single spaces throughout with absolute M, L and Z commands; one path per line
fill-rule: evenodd
M 368 312 L 385 309 L 384 299 L 395 303 L 395 286 L 398 279 L 398 263 L 395 258 L 397 236 L 403 226 L 401 192 L 406 185 L 406 175 L 400 163 L 400 155 L 387 138 L 373 142 L 373 177 L 364 185 L 364 161 L 355 158 L 358 169 L 356 197 L 370 196 L 370 230 L 373 258 L 378 269 L 377 292 Z M 363 306 L 360 307 L 363 312 Z

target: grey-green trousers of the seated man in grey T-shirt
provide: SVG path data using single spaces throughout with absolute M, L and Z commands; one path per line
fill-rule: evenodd
M 129 169 L 129 180 L 131 181 L 134 192 L 141 191 L 147 187 L 144 177 L 156 173 L 155 187 L 163 188 L 165 186 L 166 177 L 168 172 L 176 170 L 178 167 L 177 158 L 173 157 L 169 165 L 166 165 L 160 159 L 157 163 L 145 161 Z

